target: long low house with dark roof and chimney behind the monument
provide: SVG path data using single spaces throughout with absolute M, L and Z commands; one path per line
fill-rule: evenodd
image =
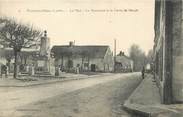
M 63 71 L 74 72 L 76 67 L 80 71 L 111 72 L 113 71 L 113 55 L 109 46 L 53 46 L 55 65 Z

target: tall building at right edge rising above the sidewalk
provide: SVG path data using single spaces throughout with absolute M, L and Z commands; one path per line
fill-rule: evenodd
M 183 1 L 156 0 L 155 78 L 162 102 L 183 102 Z

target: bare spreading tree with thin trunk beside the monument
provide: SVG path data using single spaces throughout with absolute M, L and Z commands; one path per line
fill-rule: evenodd
M 13 48 L 14 78 L 17 78 L 17 56 L 22 48 L 31 48 L 39 42 L 41 31 L 33 26 L 18 23 L 14 19 L 0 18 L 0 44 Z

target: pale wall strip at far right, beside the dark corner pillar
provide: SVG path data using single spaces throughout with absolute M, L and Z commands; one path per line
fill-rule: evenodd
M 173 3 L 173 101 L 183 102 L 183 15 L 182 1 Z

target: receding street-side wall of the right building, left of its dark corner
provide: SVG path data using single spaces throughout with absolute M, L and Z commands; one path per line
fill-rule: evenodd
M 163 101 L 165 71 L 165 1 L 155 2 L 155 39 L 154 39 L 155 78 Z

